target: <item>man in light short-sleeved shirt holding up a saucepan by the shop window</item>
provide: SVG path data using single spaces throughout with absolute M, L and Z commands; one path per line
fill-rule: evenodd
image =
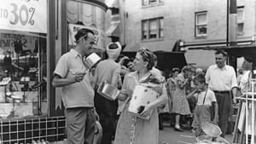
M 95 135 L 96 111 L 94 89 L 83 63 L 95 43 L 94 32 L 79 29 L 75 35 L 76 47 L 61 55 L 54 72 L 52 85 L 61 87 L 65 107 L 68 144 L 91 144 Z

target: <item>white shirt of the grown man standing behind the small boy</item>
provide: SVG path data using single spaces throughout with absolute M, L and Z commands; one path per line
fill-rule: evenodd
M 207 69 L 206 82 L 209 89 L 229 91 L 237 87 L 236 72 L 232 66 L 226 65 L 220 69 L 217 65 L 212 65 Z

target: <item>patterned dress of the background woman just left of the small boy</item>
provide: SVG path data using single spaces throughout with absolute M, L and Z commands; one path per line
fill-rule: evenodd
M 191 114 L 191 112 L 189 110 L 189 102 L 186 97 L 186 90 L 185 87 L 181 88 L 179 86 L 179 83 L 183 83 L 184 81 L 185 78 L 183 73 L 179 73 L 176 78 L 176 89 L 172 95 L 172 112 L 181 115 L 188 115 Z

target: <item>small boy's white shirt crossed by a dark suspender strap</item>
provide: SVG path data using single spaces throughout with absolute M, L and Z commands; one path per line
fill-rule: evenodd
M 207 95 L 206 95 L 206 92 L 207 92 Z M 203 103 L 205 95 L 206 95 L 206 100 L 205 100 L 205 103 Z M 212 106 L 212 102 L 217 101 L 214 95 L 214 92 L 211 89 L 207 89 L 207 91 L 203 91 L 199 94 L 195 94 L 195 98 L 197 99 L 198 106 L 202 106 L 202 105 Z

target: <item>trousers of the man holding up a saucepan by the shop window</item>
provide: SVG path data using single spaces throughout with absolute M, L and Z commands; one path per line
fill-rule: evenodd
M 76 107 L 65 109 L 68 144 L 92 144 L 96 116 L 93 108 Z

